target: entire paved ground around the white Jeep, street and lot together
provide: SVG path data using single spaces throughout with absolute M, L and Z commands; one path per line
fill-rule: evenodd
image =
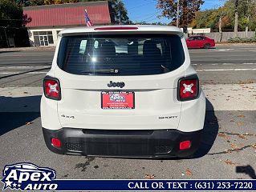
M 256 178 L 256 46 L 189 53 L 208 99 L 200 150 L 195 158 L 152 160 L 86 158 L 47 150 L 40 86 L 54 53 L 0 51 L 0 169 L 32 162 L 55 169 L 57 178 Z

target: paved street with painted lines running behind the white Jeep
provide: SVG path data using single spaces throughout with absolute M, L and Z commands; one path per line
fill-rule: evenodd
M 189 52 L 203 84 L 255 80 L 255 46 L 220 46 Z M 0 87 L 41 86 L 53 55 L 53 50 L 1 52 Z

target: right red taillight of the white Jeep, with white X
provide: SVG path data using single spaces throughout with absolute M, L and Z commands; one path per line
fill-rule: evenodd
M 197 75 L 192 75 L 186 78 L 181 78 L 178 82 L 179 101 L 189 101 L 198 97 L 199 80 Z

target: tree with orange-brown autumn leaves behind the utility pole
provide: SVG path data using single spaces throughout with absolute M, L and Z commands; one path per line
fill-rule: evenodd
M 162 10 L 161 17 L 172 19 L 174 24 L 177 21 L 177 6 L 179 6 L 179 26 L 188 26 L 203 3 L 203 0 L 158 0 L 156 8 Z

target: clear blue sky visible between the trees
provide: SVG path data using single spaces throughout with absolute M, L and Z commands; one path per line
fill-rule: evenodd
M 123 0 L 123 2 L 132 22 L 170 22 L 167 18 L 157 18 L 157 15 L 161 14 L 161 10 L 156 9 L 157 0 Z M 224 0 L 205 0 L 201 10 L 217 8 L 224 2 Z

